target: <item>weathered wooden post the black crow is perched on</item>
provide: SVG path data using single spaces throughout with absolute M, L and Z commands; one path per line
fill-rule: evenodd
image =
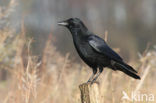
M 79 85 L 81 92 L 81 103 L 100 103 L 99 87 L 97 83 Z

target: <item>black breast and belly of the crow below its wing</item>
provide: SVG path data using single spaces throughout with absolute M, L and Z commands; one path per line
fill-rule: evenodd
M 102 54 L 97 53 L 87 41 L 83 40 L 75 40 L 74 41 L 75 48 L 79 54 L 79 56 L 83 59 L 83 61 L 88 64 L 90 67 L 95 67 L 98 65 L 108 65 L 109 62 L 107 57 Z

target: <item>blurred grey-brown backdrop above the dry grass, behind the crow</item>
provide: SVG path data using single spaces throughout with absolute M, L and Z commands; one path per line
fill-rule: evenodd
M 1 0 L 3 9 L 10 0 Z M 77 58 L 71 34 L 57 22 L 71 17 L 80 18 L 90 31 L 104 37 L 108 31 L 108 44 L 121 49 L 127 60 L 136 59 L 147 43 L 156 43 L 155 0 L 15 0 L 16 6 L 9 16 L 9 26 L 20 31 L 24 21 L 26 35 L 33 37 L 33 52 L 42 57 L 45 42 L 52 36 L 61 54 L 70 52 Z M 5 25 L 1 18 L 1 28 Z

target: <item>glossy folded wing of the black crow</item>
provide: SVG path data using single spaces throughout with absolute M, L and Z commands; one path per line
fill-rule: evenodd
M 106 55 L 113 60 L 122 61 L 122 58 L 115 51 L 113 51 L 102 38 L 96 35 L 91 35 L 88 38 L 88 42 L 98 53 Z

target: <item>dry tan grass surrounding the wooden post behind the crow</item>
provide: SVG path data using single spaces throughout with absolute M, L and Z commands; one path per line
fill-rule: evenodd
M 9 39 L 14 30 L 7 27 L 0 30 L 0 76 L 3 70 L 8 74 L 6 80 L 0 81 L 0 103 L 80 103 L 78 86 L 88 80 L 91 69 L 70 61 L 69 54 L 62 57 L 50 40 L 47 41 L 43 61 L 37 63 L 37 57 L 33 57 L 29 50 L 32 40 L 24 37 L 23 25 L 21 29 L 21 35 L 14 39 Z M 26 67 L 22 60 L 24 46 L 28 48 Z M 121 100 L 123 90 L 128 94 L 140 91 L 156 95 L 156 50 L 145 52 L 138 61 L 130 64 L 139 71 L 141 81 L 105 69 L 98 79 L 100 103 L 132 103 Z

